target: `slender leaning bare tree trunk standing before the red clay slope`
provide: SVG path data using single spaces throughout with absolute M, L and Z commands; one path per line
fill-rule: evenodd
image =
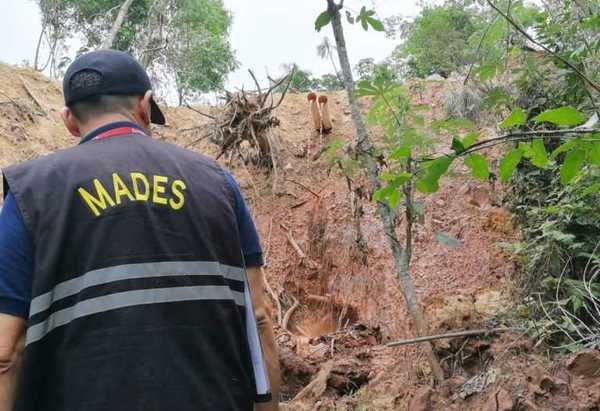
M 378 190 L 381 188 L 381 183 L 379 182 L 379 166 L 376 159 L 371 155 L 373 143 L 371 142 L 362 114 L 360 113 L 358 104 L 354 97 L 354 79 L 352 78 L 352 69 L 350 67 L 350 60 L 346 50 L 346 41 L 344 39 L 344 30 L 342 28 L 342 21 L 340 17 L 340 9 L 342 4 L 343 2 L 340 5 L 337 5 L 335 4 L 334 0 L 327 0 L 327 7 L 331 15 L 333 35 L 335 37 L 342 75 L 344 77 L 344 86 L 346 87 L 348 101 L 350 102 L 352 120 L 356 127 L 356 151 L 363 167 L 367 171 L 371 185 L 375 190 Z M 391 248 L 392 255 L 394 256 L 396 276 L 400 283 L 404 299 L 406 300 L 408 311 L 415 321 L 417 336 L 426 335 L 428 332 L 427 324 L 423 315 L 421 304 L 415 293 L 415 288 L 409 271 L 410 250 L 408 250 L 406 247 L 403 247 L 398 240 L 396 227 L 394 224 L 394 211 L 391 210 L 386 204 L 381 202 L 379 202 L 377 206 L 379 219 L 383 224 L 383 230 L 388 238 L 388 243 Z M 407 223 L 411 224 L 411 222 L 408 221 Z M 411 246 L 410 243 L 408 245 Z M 433 352 L 431 343 L 425 344 L 425 351 L 434 378 L 437 382 L 443 381 L 444 374 L 438 358 Z

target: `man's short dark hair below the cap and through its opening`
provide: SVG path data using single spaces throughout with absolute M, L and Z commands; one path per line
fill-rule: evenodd
M 73 88 L 84 88 L 101 81 L 102 76 L 96 71 L 83 70 L 73 76 L 70 84 Z M 100 94 L 76 101 L 69 105 L 69 109 L 77 120 L 87 122 L 95 116 L 131 111 L 138 98 L 138 95 L 132 94 Z

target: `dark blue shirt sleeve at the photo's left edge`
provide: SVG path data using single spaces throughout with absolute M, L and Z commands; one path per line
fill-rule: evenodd
M 13 195 L 0 210 L 0 312 L 27 318 L 31 302 L 34 246 Z

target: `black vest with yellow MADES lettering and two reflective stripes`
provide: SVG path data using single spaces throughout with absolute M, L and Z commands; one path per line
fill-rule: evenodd
M 235 203 L 214 161 L 125 135 L 4 177 L 35 245 L 15 410 L 252 409 Z

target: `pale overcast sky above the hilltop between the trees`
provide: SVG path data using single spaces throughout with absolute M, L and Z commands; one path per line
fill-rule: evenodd
M 40 16 L 33 0 L 0 0 L 0 61 L 20 64 L 32 61 L 40 32 Z M 323 36 L 333 40 L 331 28 L 314 30 L 314 20 L 325 9 L 323 0 L 224 0 L 233 14 L 231 42 L 240 68 L 229 76 L 228 88 L 251 86 L 248 68 L 261 78 L 281 72 L 282 63 L 296 62 L 314 74 L 332 72 L 322 61 L 316 47 Z M 414 16 L 417 0 L 346 0 L 345 5 L 358 11 L 362 5 L 375 6 L 381 18 L 394 14 Z M 359 26 L 346 29 L 348 53 L 352 64 L 365 57 L 385 58 L 395 42 L 382 33 L 364 32 Z M 71 50 L 74 54 L 75 50 Z

